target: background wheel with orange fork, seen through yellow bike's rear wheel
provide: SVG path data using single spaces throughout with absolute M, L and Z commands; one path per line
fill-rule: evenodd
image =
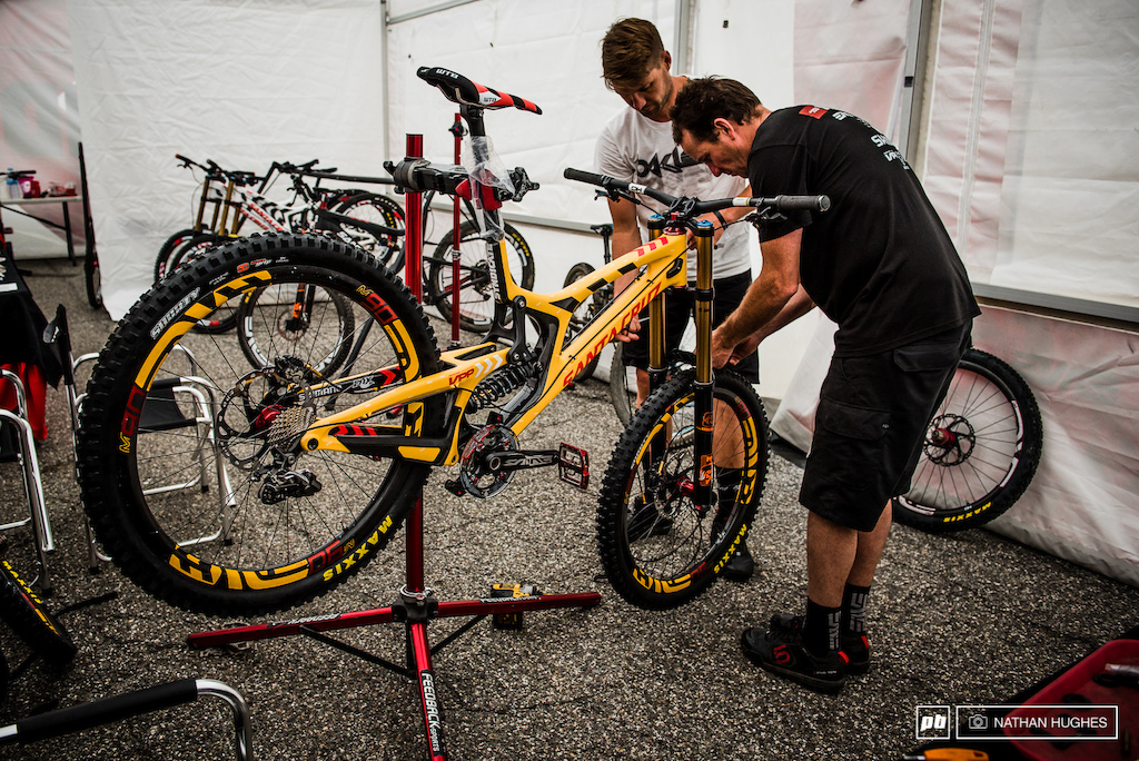
M 351 302 L 311 283 L 257 288 L 238 308 L 238 343 L 254 368 L 288 355 L 316 377 L 330 378 L 347 358 L 354 333 Z

